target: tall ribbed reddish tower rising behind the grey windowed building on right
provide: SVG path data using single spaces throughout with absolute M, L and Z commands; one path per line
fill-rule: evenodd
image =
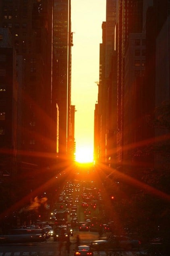
M 143 0 L 119 0 L 117 9 L 117 147 L 116 163 L 123 164 L 124 146 L 124 58 L 129 33 L 141 33 L 143 28 Z

